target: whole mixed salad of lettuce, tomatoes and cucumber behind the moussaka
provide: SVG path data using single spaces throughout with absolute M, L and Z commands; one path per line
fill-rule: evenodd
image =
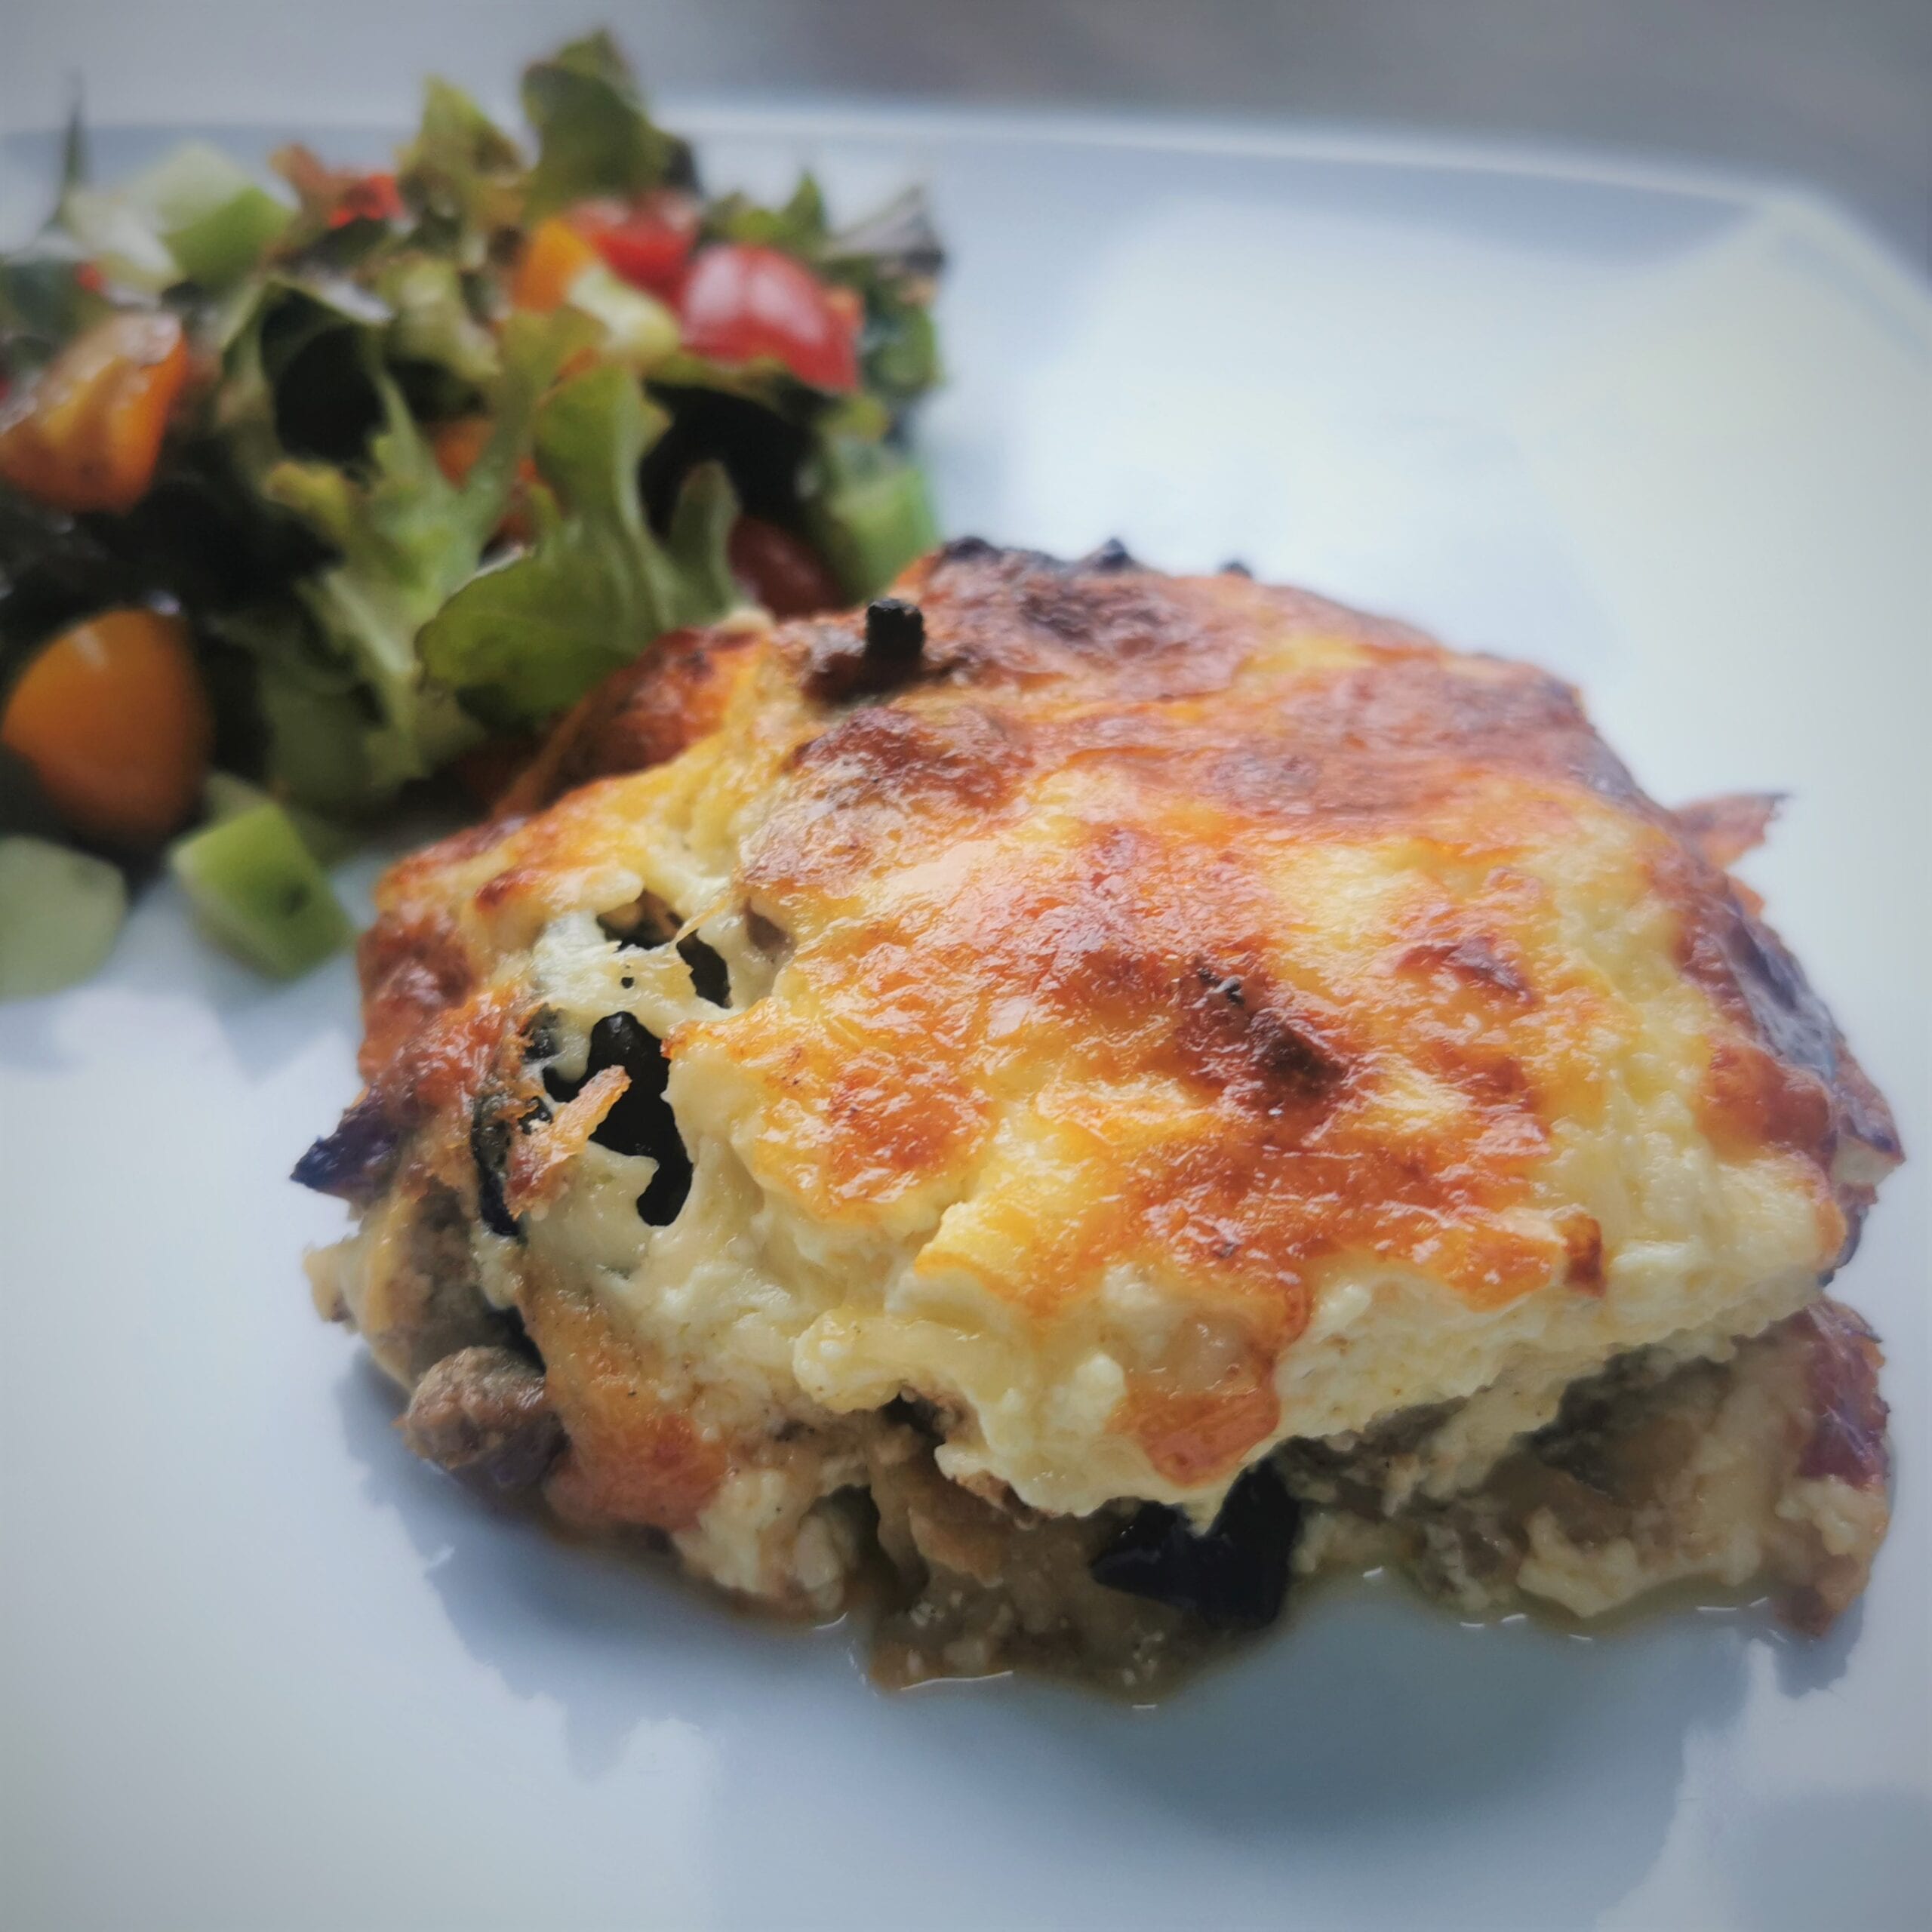
M 918 193 L 707 195 L 607 35 L 442 81 L 394 172 L 191 143 L 0 257 L 0 997 L 89 974 L 160 856 L 272 974 L 408 792 L 487 806 L 558 711 L 736 605 L 935 541 Z

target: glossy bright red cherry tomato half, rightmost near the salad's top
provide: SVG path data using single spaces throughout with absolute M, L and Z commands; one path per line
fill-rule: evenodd
M 858 388 L 856 298 L 775 247 L 699 249 L 680 307 L 684 344 L 697 355 L 724 363 L 775 355 L 813 388 Z

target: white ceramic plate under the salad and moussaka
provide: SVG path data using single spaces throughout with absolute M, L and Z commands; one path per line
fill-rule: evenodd
M 1932 299 L 1791 197 L 1584 164 L 983 120 L 717 120 L 954 249 L 951 529 L 1244 556 L 1588 688 L 1926 1132 Z M 243 143 L 253 145 L 253 143 Z M 334 141 L 367 153 L 369 135 Z M 110 155 L 108 158 L 122 158 Z M 359 875 L 367 877 L 367 869 Z M 1926 1188 L 1843 1293 L 1897 1524 L 1862 1607 L 1580 1640 L 1325 1598 L 1155 1712 L 873 1690 L 413 1463 L 298 1265 L 354 1092 L 166 891 L 0 1010 L 0 1868 L 19 1926 L 1920 1926 Z

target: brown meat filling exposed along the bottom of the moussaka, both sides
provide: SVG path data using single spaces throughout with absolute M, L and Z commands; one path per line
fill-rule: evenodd
M 410 1385 L 417 1455 L 497 1488 L 545 1484 L 566 1451 L 545 1366 L 468 1267 L 442 1265 L 442 1209 L 431 1198 L 417 1225 L 383 1231 L 396 1265 L 381 1296 L 319 1298 Z M 736 1520 L 672 1546 L 690 1573 L 802 1615 L 869 1598 L 895 1685 L 1026 1665 L 1146 1694 L 1273 1621 L 1291 1548 L 1296 1577 L 1395 1567 L 1468 1615 L 1592 1619 L 1667 1584 L 1756 1584 L 1816 1633 L 1864 1588 L 1886 1532 L 1878 1362 L 1864 1323 L 1820 1298 L 1721 1358 L 1623 1356 L 1478 1455 L 1472 1405 L 1291 1441 L 1211 1526 L 1132 1499 L 1051 1517 L 962 1488 L 935 1463 L 945 1418 L 896 1403 L 788 1428 L 740 1484 Z

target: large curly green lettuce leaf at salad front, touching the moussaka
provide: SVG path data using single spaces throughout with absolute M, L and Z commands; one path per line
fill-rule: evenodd
M 638 466 L 665 415 L 622 369 L 564 383 L 537 415 L 537 468 L 553 497 L 535 545 L 466 583 L 421 636 L 431 676 L 495 724 L 531 723 L 680 624 L 736 593 L 724 537 L 736 498 L 717 464 L 692 471 L 670 527 L 653 535 Z

